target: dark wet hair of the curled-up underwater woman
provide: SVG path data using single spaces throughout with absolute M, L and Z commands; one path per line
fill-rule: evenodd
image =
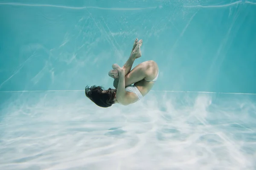
M 90 88 L 85 87 L 85 95 L 93 101 L 96 105 L 102 108 L 108 108 L 113 105 L 116 89 L 108 88 L 108 90 L 103 93 L 104 89 L 101 86 L 93 85 Z

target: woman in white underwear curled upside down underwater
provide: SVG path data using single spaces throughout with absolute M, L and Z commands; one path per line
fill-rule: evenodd
M 142 40 L 138 41 L 136 38 L 131 55 L 122 68 L 117 64 L 112 65 L 113 70 L 108 75 L 114 79 L 115 89 L 103 90 L 101 86 L 95 85 L 85 88 L 85 95 L 91 101 L 103 108 L 114 103 L 129 105 L 142 99 L 150 91 L 159 74 L 157 63 L 145 61 L 131 71 L 134 60 L 141 57 L 142 43 Z

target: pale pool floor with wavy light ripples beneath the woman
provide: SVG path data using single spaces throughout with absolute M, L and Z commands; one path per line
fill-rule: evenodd
M 178 97 L 184 97 L 180 105 L 179 94 L 168 102 L 151 94 L 129 108 L 99 109 L 79 92 L 57 93 L 27 94 L 1 111 L 0 169 L 256 167 L 256 126 L 250 123 L 256 111 L 250 100 L 185 95 Z M 241 113 L 247 117 L 234 116 Z

